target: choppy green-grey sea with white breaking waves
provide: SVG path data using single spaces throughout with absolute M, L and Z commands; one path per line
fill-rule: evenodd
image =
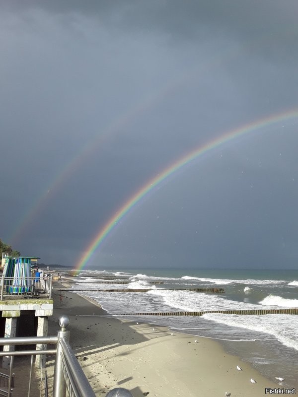
M 110 316 L 166 326 L 172 332 L 215 339 L 223 345 L 225 351 L 250 363 L 265 377 L 276 382 L 277 387 L 295 387 L 298 390 L 296 315 L 121 315 L 138 312 L 297 308 L 298 270 L 142 268 L 119 271 L 102 268 L 82 270 L 73 280 L 72 290 L 83 289 L 79 293 L 100 303 Z M 107 280 L 108 284 L 99 283 Z M 120 281 L 128 283 L 119 284 Z M 163 283 L 151 284 L 152 281 Z M 169 290 L 212 287 L 223 287 L 224 293 Z M 151 290 L 146 293 L 98 291 L 119 288 Z

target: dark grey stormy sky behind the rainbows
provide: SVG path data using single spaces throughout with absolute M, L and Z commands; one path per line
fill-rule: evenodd
M 296 1 L 0 4 L 0 238 L 75 265 L 142 186 L 298 110 Z M 88 266 L 297 268 L 298 113 L 199 156 Z

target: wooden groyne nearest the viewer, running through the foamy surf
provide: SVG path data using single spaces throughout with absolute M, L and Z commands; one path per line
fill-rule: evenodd
M 265 314 L 298 314 L 298 308 L 291 309 L 260 309 L 260 310 L 209 310 L 202 312 L 150 312 L 150 313 L 121 313 L 119 316 L 203 316 L 204 314 L 237 314 L 256 316 Z

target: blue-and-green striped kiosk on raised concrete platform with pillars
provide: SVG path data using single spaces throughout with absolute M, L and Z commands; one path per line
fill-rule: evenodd
M 0 337 L 47 336 L 48 316 L 53 314 L 52 276 L 40 277 L 37 257 L 2 255 L 0 279 Z M 10 351 L 14 346 L 4 346 Z M 37 345 L 42 349 L 42 345 Z M 41 365 L 43 356 L 36 356 Z M 3 357 L 3 368 L 9 366 Z

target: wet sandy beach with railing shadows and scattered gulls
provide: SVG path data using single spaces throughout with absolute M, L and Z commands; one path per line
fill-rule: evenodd
M 68 287 L 67 281 L 59 285 Z M 252 397 L 265 396 L 266 387 L 281 387 L 225 352 L 215 339 L 108 317 L 92 298 L 63 291 L 60 302 L 57 292 L 49 334 L 56 334 L 60 315 L 70 317 L 71 346 L 97 396 L 124 387 L 134 397 L 148 392 L 158 397 L 214 397 L 225 392 Z

